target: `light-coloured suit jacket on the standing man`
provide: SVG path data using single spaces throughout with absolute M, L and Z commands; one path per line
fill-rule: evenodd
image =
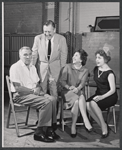
M 37 35 L 34 39 L 32 47 L 32 64 L 37 63 L 37 70 L 41 82 L 50 70 L 52 77 L 55 81 L 58 80 L 59 73 L 62 67 L 65 66 L 67 61 L 67 44 L 64 36 L 54 34 L 53 49 L 51 49 L 50 60 L 47 57 L 46 39 L 44 34 Z

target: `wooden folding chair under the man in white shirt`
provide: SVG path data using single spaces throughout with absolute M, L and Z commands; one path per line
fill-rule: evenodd
M 11 81 L 10 81 L 9 76 L 6 76 L 6 82 L 7 82 L 8 93 L 9 93 L 9 98 L 10 98 L 6 127 L 9 128 L 11 113 L 13 113 L 14 123 L 15 123 L 15 128 L 16 128 L 16 134 L 19 137 L 20 134 L 19 134 L 19 126 L 18 126 L 18 123 L 17 123 L 16 113 L 17 112 L 25 112 L 25 111 L 27 112 L 26 120 L 25 120 L 25 125 L 27 125 L 27 123 L 28 123 L 28 117 L 29 117 L 29 112 L 30 112 L 30 107 L 29 106 L 26 107 L 24 105 L 17 104 L 17 103 L 15 103 L 13 101 L 11 87 L 10 87 L 11 86 Z M 15 107 L 23 107 L 23 106 L 26 107 L 26 109 L 24 109 L 24 110 L 22 110 L 22 109 L 19 109 L 19 110 L 15 109 Z

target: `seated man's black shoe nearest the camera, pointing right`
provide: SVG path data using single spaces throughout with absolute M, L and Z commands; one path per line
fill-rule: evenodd
M 34 134 L 34 140 L 36 141 L 42 141 L 42 142 L 54 142 L 54 139 L 50 139 L 48 137 L 46 137 L 44 134 L 39 134 L 39 135 L 36 135 Z

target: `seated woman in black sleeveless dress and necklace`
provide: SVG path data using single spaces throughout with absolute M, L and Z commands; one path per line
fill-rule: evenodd
M 111 60 L 108 47 L 98 50 L 95 56 L 97 66 L 94 68 L 94 80 L 97 85 L 97 90 L 95 95 L 87 100 L 87 109 L 102 129 L 101 138 L 106 138 L 109 130 L 108 125 L 104 121 L 102 111 L 115 105 L 117 102 L 115 74 L 108 66 L 108 62 Z

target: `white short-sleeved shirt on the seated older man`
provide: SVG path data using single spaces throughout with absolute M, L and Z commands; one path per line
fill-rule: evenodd
M 10 68 L 10 80 L 20 83 L 21 86 L 33 89 L 39 82 L 39 77 L 34 65 L 30 65 L 28 69 L 23 61 L 19 60 Z M 11 91 L 15 92 L 13 84 L 11 84 Z

